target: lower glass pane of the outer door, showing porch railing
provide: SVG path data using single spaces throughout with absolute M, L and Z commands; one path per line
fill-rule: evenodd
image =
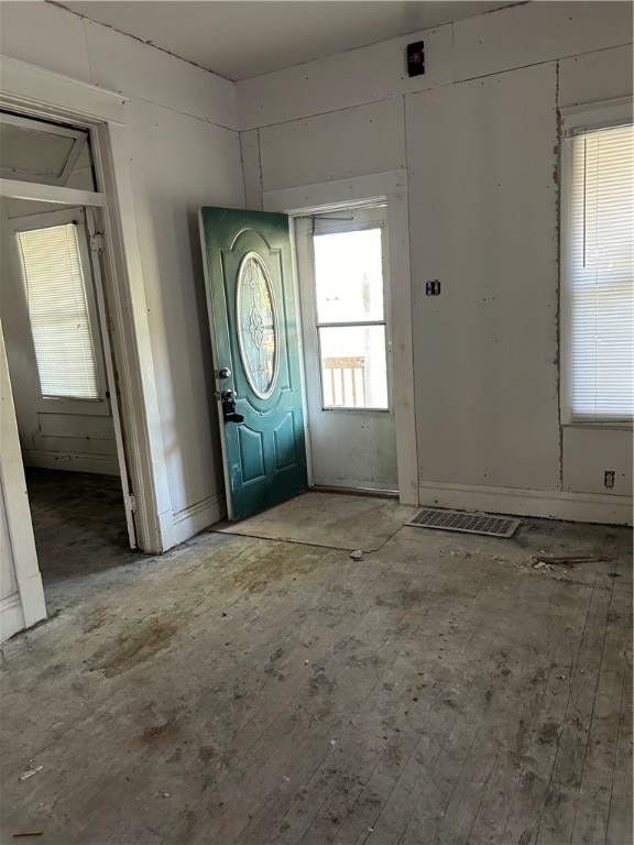
M 325 408 L 387 408 L 385 327 L 319 329 Z

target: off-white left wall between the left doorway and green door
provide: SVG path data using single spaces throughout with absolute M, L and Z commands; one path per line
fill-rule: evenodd
M 200 205 L 243 207 L 234 86 L 57 7 L 4 2 L 0 50 L 128 97 L 131 188 L 179 542 L 222 514 Z

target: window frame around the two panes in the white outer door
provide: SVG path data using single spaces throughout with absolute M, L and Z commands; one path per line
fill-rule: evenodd
M 338 218 L 337 215 L 348 215 L 349 217 Z M 379 229 L 381 231 L 381 270 L 383 276 L 383 319 L 382 320 L 347 320 L 343 322 L 320 322 L 317 309 L 317 287 L 315 270 L 315 238 L 323 234 L 342 234 L 345 232 L 358 232 L 368 229 Z M 368 413 L 393 414 L 394 400 L 392 396 L 392 332 L 390 319 L 390 266 L 387 263 L 387 207 L 385 204 L 376 206 L 342 207 L 335 211 L 321 211 L 313 216 L 313 229 L 310 232 L 310 262 L 311 262 L 311 307 L 314 315 L 314 330 L 316 337 L 316 350 L 319 361 L 321 360 L 321 333 L 320 329 L 328 328 L 358 328 L 365 326 L 382 326 L 385 337 L 385 366 L 386 366 L 386 386 L 387 386 L 387 407 L 379 408 L 373 405 L 351 406 L 351 405 L 325 405 L 324 404 L 324 373 L 318 367 L 319 373 L 319 404 L 321 411 L 331 414 L 338 413 Z

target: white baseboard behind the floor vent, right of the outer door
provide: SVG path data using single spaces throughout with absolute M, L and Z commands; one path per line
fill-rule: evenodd
M 482 485 L 422 482 L 420 504 L 463 511 L 568 519 L 575 523 L 632 525 L 630 496 L 522 490 Z

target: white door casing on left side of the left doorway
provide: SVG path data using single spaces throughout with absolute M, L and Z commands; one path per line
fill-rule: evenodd
M 22 627 L 30 628 L 46 618 L 42 577 L 37 566 L 31 509 L 26 495 L 24 467 L 20 451 L 18 420 L 11 389 L 11 376 L 0 326 L 0 484 L 7 514 L 7 527 L 15 581 L 20 596 Z M 4 551 L 2 553 L 6 553 Z M 15 621 L 12 613 L 11 618 Z M 13 624 L 13 623 L 11 623 Z M 13 632 L 15 633 L 15 632 Z M 12 635 L 11 635 L 12 636 Z

